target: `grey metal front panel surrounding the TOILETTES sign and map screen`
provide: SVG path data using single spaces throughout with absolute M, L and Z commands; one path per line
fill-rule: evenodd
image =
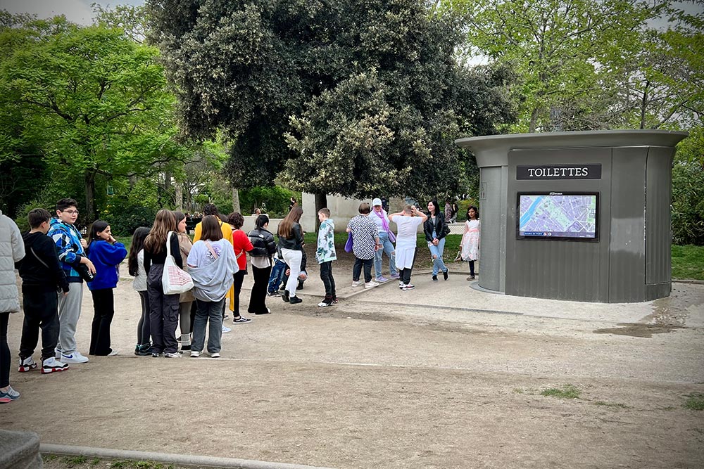
M 512 150 L 508 155 L 506 293 L 559 300 L 608 301 L 610 148 Z M 601 179 L 516 179 L 517 165 L 601 164 Z M 517 193 L 597 191 L 598 241 L 517 239 Z M 483 241 L 483 239 L 482 239 Z

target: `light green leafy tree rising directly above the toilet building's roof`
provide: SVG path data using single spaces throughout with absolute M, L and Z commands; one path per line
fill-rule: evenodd
M 665 3 L 641 0 L 457 0 L 474 53 L 520 78 L 517 131 L 617 127 L 612 60 L 639 50 Z M 618 101 L 617 101 L 618 103 Z M 620 112 L 615 112 L 620 111 Z

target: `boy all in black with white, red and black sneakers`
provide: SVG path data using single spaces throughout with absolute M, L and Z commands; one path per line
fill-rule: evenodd
M 64 371 L 68 364 L 54 358 L 59 329 L 56 292 L 63 290 L 66 295 L 69 285 L 58 262 L 56 245 L 46 236 L 51 214 L 43 208 L 35 208 L 27 214 L 27 219 L 32 230 L 22 236 L 25 258 L 18 263 L 25 311 L 18 371 L 24 373 L 37 368 L 32 354 L 39 342 L 39 329 L 42 330 L 42 373 Z

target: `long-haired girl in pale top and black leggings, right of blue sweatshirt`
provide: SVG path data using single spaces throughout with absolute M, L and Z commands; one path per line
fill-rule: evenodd
M 137 323 L 137 345 L 134 354 L 151 355 L 151 327 L 149 321 L 149 293 L 146 290 L 146 271 L 144 271 L 144 240 L 149 235 L 149 228 L 140 226 L 132 234 L 130 257 L 127 258 L 127 270 L 134 277 L 132 288 L 139 293 L 142 303 L 142 316 Z

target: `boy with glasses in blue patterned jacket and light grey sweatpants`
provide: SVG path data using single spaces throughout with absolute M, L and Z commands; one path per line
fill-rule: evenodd
M 95 274 L 95 266 L 88 259 L 85 248 L 88 243 L 76 229 L 78 219 L 78 203 L 74 199 L 61 199 L 56 203 L 56 217 L 49 224 L 49 237 L 54 240 L 58 249 L 58 260 L 68 280 L 68 295 L 58 298 L 58 344 L 56 358 L 63 363 L 86 363 L 88 357 L 78 352 L 76 345 L 76 326 L 81 315 L 83 300 L 83 279 L 76 270 L 84 264 L 91 274 Z

